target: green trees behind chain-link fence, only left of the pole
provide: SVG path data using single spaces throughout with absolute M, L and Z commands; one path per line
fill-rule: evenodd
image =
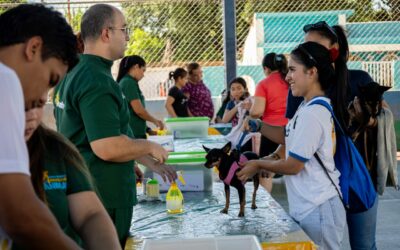
M 138 51 L 150 63 L 223 60 L 219 1 L 126 3 L 123 8 L 134 33 L 145 32 L 162 42 Z

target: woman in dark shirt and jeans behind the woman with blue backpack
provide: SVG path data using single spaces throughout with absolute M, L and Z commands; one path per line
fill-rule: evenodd
M 347 74 L 343 74 L 341 79 L 339 79 L 341 84 L 335 86 L 330 92 L 336 117 L 340 119 L 342 124 L 346 125 L 342 127 L 347 128 L 350 119 L 346 107 L 356 96 L 360 97 L 362 95 L 359 91 L 360 87 L 365 87 L 367 84 L 373 82 L 373 79 L 363 70 L 347 70 L 346 63 L 349 59 L 349 44 L 345 31 L 341 26 L 334 25 L 330 27 L 326 22 L 322 21 L 306 25 L 303 30 L 305 32 L 305 41 L 318 42 L 331 50 L 331 54 L 335 57 L 334 65 L 336 70 L 347 71 Z M 344 84 L 344 82 L 346 82 L 346 84 Z M 345 105 L 340 105 L 341 103 Z M 388 107 L 384 100 L 382 100 L 382 105 Z M 363 138 L 361 138 L 361 141 L 363 141 Z M 357 143 L 357 141 L 355 143 L 358 151 L 365 158 L 363 144 L 364 143 Z M 376 168 L 376 166 L 374 166 L 374 168 Z M 374 179 L 373 176 L 371 177 Z M 377 211 L 378 198 L 375 201 L 375 205 L 365 212 L 347 212 L 349 240 L 353 250 L 376 249 L 375 234 Z

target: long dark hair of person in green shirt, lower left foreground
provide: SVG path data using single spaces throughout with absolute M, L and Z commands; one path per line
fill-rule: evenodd
M 55 162 L 64 162 L 67 167 L 76 167 L 94 187 L 84 159 L 76 147 L 61 134 L 46 128 L 44 125 L 39 125 L 28 140 L 27 146 L 33 188 L 42 201 L 46 202 L 43 187 L 45 158 L 52 157 Z M 50 156 L 50 152 L 54 153 Z

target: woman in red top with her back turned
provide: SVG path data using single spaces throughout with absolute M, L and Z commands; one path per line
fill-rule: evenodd
M 269 53 L 265 55 L 262 66 L 266 77 L 257 85 L 250 116 L 261 117 L 263 122 L 271 125 L 286 126 L 286 99 L 289 91 L 289 84 L 285 81 L 287 60 L 282 54 Z M 261 136 L 260 157 L 272 154 L 277 147 L 278 144 Z M 269 182 L 266 189 L 271 191 L 272 180 Z

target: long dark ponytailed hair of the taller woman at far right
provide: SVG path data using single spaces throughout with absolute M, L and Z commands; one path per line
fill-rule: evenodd
M 322 37 L 329 39 L 331 45 L 335 43 L 338 43 L 339 45 L 339 56 L 333 63 L 335 65 L 335 70 L 337 72 L 341 72 L 340 74 L 337 74 L 337 81 L 340 84 L 332 86 L 327 94 L 331 99 L 336 117 L 339 119 L 343 128 L 346 129 L 348 127 L 349 113 L 346 105 L 344 104 L 346 104 L 347 100 L 349 99 L 348 95 L 350 94 L 350 88 L 348 85 L 349 73 L 347 68 L 349 44 L 345 31 L 339 25 L 330 27 L 325 22 L 306 25 L 304 26 L 303 30 L 306 33 L 310 31 L 317 32 Z

